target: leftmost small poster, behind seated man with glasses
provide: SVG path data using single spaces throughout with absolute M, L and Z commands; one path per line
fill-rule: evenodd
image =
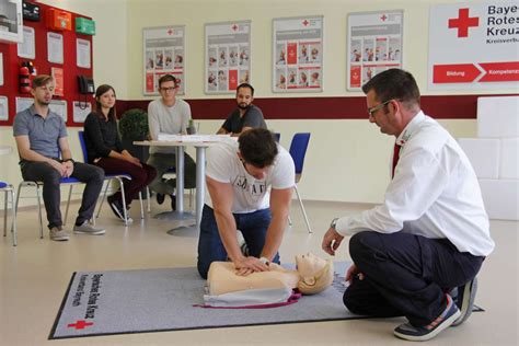
M 185 92 L 185 26 L 145 27 L 143 94 L 159 94 L 159 79 L 172 74 L 178 83 L 178 94 Z

